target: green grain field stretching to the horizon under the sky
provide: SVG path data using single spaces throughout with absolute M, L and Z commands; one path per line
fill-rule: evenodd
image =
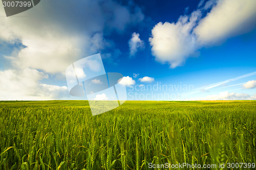
M 17 101 L 0 114 L 0 169 L 256 163 L 256 101 L 126 101 L 97 116 L 88 101 Z

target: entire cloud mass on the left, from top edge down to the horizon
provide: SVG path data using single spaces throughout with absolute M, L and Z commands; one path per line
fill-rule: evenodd
M 0 15 L 5 16 L 3 6 Z M 14 17 L 1 17 L 0 45 L 13 48 L 0 54 L 1 59 L 11 63 L 11 68 L 0 72 L 0 99 L 48 100 L 66 96 L 66 86 L 40 81 L 48 74 L 64 77 L 71 63 L 104 50 L 108 53 L 102 58 L 116 64 L 121 52 L 105 37 L 113 31 L 121 34 L 127 26 L 135 26 L 143 19 L 144 14 L 135 4 L 124 6 L 112 0 L 41 1 Z M 87 76 L 79 69 L 77 75 Z

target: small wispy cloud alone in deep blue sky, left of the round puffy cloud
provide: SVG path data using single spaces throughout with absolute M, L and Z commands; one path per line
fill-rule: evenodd
M 139 38 L 139 33 L 133 33 L 129 40 L 130 56 L 134 56 L 139 50 L 144 48 L 144 42 Z

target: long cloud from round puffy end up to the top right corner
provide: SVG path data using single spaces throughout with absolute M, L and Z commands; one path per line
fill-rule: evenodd
M 254 0 L 210 0 L 202 7 L 203 3 L 189 16 L 180 16 L 176 23 L 159 22 L 152 29 L 149 40 L 157 61 L 175 68 L 196 56 L 201 47 L 219 44 L 255 28 Z M 210 12 L 202 18 L 207 9 Z

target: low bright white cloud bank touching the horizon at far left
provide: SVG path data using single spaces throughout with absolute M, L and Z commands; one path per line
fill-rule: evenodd
M 0 71 L 0 100 L 54 100 L 69 96 L 66 86 L 41 84 L 48 75 L 36 69 Z

